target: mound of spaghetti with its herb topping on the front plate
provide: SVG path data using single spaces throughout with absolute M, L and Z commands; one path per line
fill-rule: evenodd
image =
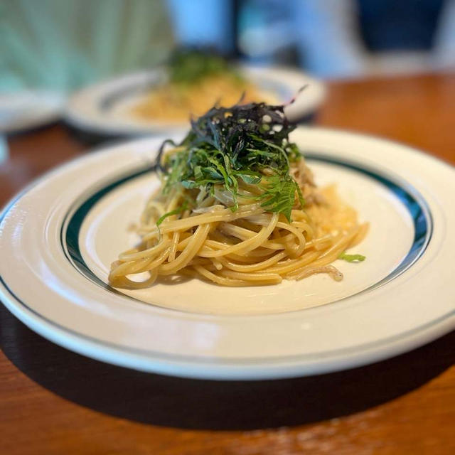
M 291 129 L 281 106 L 236 105 L 211 109 L 181 144 L 165 141 L 163 184 L 142 213 L 139 245 L 112 264 L 111 284 L 134 289 L 183 276 L 241 287 L 317 273 L 341 280 L 331 263 L 368 224 L 335 188 L 316 188 Z

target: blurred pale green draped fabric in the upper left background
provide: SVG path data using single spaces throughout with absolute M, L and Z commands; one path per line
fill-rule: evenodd
M 0 91 L 68 92 L 159 63 L 173 44 L 165 1 L 2 0 Z

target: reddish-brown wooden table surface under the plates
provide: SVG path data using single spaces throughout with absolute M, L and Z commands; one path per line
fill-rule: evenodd
M 455 164 L 455 75 L 331 82 L 316 123 Z M 87 151 L 62 125 L 9 147 L 2 204 Z M 0 316 L 0 454 L 455 454 L 455 332 L 340 373 L 217 382 L 90 360 Z

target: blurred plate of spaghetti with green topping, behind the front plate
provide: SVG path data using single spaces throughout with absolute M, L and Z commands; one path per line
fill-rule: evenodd
M 301 87 L 305 97 L 286 107 L 292 121 L 309 119 L 325 97 L 319 80 L 287 68 L 237 65 L 220 55 L 178 50 L 166 65 L 124 75 L 76 92 L 66 121 L 87 132 L 137 135 L 184 130 L 190 115 L 242 102 L 288 102 Z

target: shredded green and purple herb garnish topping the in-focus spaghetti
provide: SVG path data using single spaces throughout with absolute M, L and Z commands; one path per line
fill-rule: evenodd
M 164 194 L 171 188 L 203 188 L 213 193 L 220 186 L 232 195 L 232 211 L 240 196 L 261 203 L 268 212 L 282 213 L 289 221 L 295 200 L 304 205 L 298 183 L 289 175 L 290 164 L 301 159 L 289 142 L 295 128 L 284 116 L 284 106 L 265 103 L 213 107 L 191 121 L 180 144 L 162 144 L 158 166 L 164 176 Z M 164 155 L 166 145 L 178 146 Z M 163 161 L 163 162 L 161 162 Z M 240 193 L 238 182 L 259 185 L 259 196 Z

